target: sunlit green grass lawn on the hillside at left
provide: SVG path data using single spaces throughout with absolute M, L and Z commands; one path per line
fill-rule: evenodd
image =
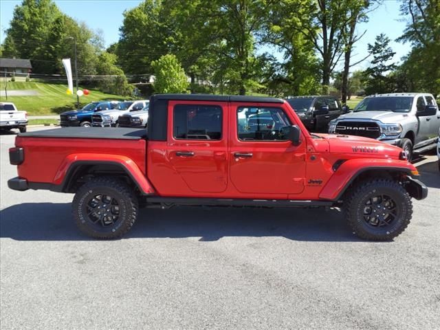
M 0 80 L 0 89 L 5 90 L 5 83 Z M 38 82 L 8 82 L 8 91 L 12 90 L 34 90 L 39 96 L 0 96 L 0 102 L 14 102 L 19 110 L 28 111 L 29 115 L 56 115 L 64 111 L 76 109 L 76 96 L 67 95 L 67 85 L 38 83 Z M 83 87 L 80 87 L 83 89 Z M 96 89 L 89 89 L 88 96 L 80 97 L 80 104 L 85 105 L 98 100 L 124 100 L 126 98 L 118 95 L 105 94 Z

